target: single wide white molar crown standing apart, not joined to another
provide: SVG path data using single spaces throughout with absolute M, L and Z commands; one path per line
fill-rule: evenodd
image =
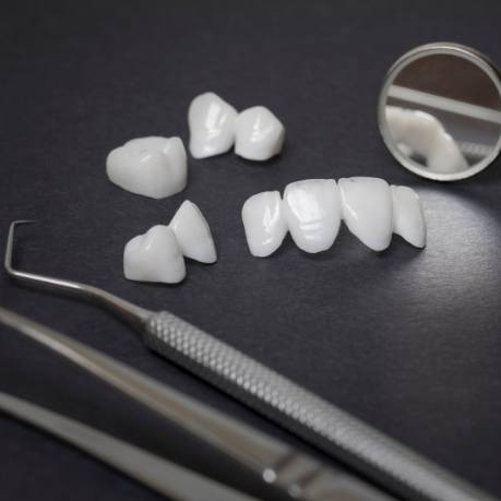
M 127 191 L 164 199 L 187 186 L 187 154 L 179 138 L 139 138 L 109 153 L 106 172 Z

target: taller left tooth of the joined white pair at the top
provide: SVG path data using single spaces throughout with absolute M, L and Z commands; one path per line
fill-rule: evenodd
M 194 158 L 206 158 L 227 152 L 235 142 L 237 110 L 217 94 L 196 96 L 188 110 L 190 152 Z

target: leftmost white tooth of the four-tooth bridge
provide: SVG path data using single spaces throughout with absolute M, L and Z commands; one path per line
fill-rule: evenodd
M 265 258 L 275 252 L 287 235 L 278 191 L 265 191 L 247 199 L 242 207 L 242 222 L 252 255 Z

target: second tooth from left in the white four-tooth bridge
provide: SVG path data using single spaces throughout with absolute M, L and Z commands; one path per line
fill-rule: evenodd
M 308 179 L 288 184 L 284 213 L 296 244 L 306 252 L 329 249 L 339 230 L 339 192 L 333 179 Z

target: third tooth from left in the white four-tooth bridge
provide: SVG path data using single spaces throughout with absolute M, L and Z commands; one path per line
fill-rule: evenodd
M 393 202 L 387 182 L 355 177 L 339 179 L 337 184 L 348 229 L 372 250 L 386 249 L 393 231 Z

